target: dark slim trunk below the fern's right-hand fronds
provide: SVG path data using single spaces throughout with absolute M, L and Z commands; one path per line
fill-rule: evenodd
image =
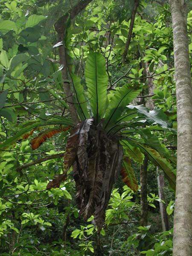
M 147 204 L 147 165 L 148 157 L 145 159 L 140 169 L 140 183 L 141 183 L 141 226 L 147 226 L 148 204 Z

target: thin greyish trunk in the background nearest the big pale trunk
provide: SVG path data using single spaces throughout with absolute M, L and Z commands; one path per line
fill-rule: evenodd
M 159 198 L 164 201 L 164 176 L 163 172 L 158 170 L 157 167 L 157 183 L 158 183 L 158 194 Z M 163 231 L 169 230 L 169 219 L 166 212 L 166 205 L 162 202 L 159 202 L 160 214 L 161 214 L 161 222 Z

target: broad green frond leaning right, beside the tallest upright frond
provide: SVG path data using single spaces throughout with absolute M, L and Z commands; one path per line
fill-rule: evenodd
M 116 120 L 125 110 L 126 105 L 129 102 L 132 102 L 141 90 L 141 86 L 135 89 L 134 87 L 131 87 L 131 85 L 125 84 L 114 93 L 105 112 L 105 128 L 116 123 Z

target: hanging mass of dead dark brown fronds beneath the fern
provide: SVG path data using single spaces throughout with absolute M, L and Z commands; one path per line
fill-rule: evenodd
M 88 129 L 89 125 L 84 121 L 73 164 L 73 177 L 80 214 L 85 220 L 94 215 L 98 230 L 101 230 L 111 190 L 121 169 L 123 153 L 116 137 L 108 138 L 100 124 L 94 122 L 90 131 Z

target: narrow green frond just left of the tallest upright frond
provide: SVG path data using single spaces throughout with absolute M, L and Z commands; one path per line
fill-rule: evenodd
M 76 109 L 78 111 L 78 114 L 81 118 L 81 120 L 87 119 L 89 118 L 89 113 L 87 111 L 87 101 L 86 98 L 84 96 L 84 91 L 83 91 L 83 86 L 81 84 L 81 79 L 74 75 L 74 74 L 70 74 L 71 75 L 71 80 L 73 83 L 73 89 L 74 89 L 74 103 L 76 106 Z

